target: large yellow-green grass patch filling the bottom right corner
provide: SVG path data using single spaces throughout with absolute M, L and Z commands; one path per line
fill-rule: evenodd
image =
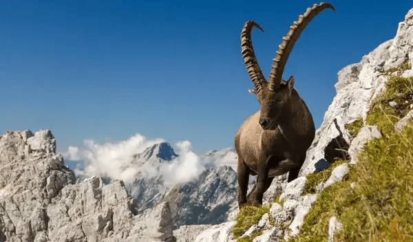
M 410 123 L 401 133 L 368 142 L 348 179 L 320 192 L 301 233 L 290 241 L 327 241 L 332 216 L 343 223 L 335 241 L 413 241 L 412 170 Z

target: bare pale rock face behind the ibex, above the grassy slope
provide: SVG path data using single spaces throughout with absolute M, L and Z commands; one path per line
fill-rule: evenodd
M 348 65 L 338 73 L 335 84 L 337 95 L 324 115 L 324 120 L 316 131 L 313 144 L 307 151 L 306 161 L 300 176 L 313 173 L 320 163 L 332 163 L 334 157 L 347 158 L 347 150 L 352 137 L 346 130 L 348 124 L 359 117 L 366 119 L 370 100 L 383 91 L 388 76 L 381 76 L 391 67 L 399 67 L 410 60 L 413 63 L 413 9 L 405 21 L 399 23 L 394 39 L 379 45 L 359 63 Z M 412 72 L 407 70 L 405 72 Z

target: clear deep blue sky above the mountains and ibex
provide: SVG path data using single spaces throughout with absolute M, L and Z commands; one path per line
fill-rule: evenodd
M 284 78 L 318 127 L 342 67 L 392 39 L 409 1 L 332 1 L 301 34 Z M 189 140 L 204 153 L 233 146 L 260 106 L 240 53 L 254 20 L 268 76 L 277 46 L 311 1 L 1 1 L 0 133 L 51 129 L 57 149 L 136 133 Z

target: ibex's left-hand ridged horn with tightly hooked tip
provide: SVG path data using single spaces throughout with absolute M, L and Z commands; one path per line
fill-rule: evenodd
M 262 86 L 266 83 L 266 80 L 264 78 L 264 75 L 262 75 L 262 71 L 260 69 L 260 65 L 258 65 L 257 58 L 255 58 L 253 43 L 251 41 L 251 31 L 253 31 L 254 27 L 259 28 L 262 32 L 264 32 L 260 25 L 258 25 L 254 21 L 247 21 L 241 32 L 241 50 L 242 58 L 244 58 L 244 63 L 246 70 L 248 71 L 248 75 L 250 76 L 251 80 L 253 80 L 255 89 L 257 89 L 257 91 L 260 91 Z

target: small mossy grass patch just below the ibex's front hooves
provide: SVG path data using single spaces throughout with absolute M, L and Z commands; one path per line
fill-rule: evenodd
M 246 241 L 253 241 L 256 236 L 260 236 L 262 234 L 255 232 L 251 234 L 251 236 L 240 238 L 246 230 L 251 228 L 252 225 L 257 224 L 258 221 L 262 218 L 262 216 L 266 213 L 270 213 L 270 206 L 254 206 L 254 205 L 246 205 L 241 208 L 240 212 L 237 215 L 237 223 L 233 228 L 233 236 L 237 239 L 238 242 L 246 242 Z M 271 216 L 269 216 L 271 217 Z M 272 217 L 271 217 L 272 219 Z M 270 223 L 271 223 L 270 219 Z M 274 223 L 274 221 L 273 221 Z

